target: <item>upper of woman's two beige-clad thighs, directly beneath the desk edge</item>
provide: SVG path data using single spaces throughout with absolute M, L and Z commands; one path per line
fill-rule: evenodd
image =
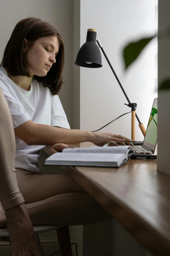
M 65 193 L 81 192 L 84 189 L 67 174 L 36 174 L 16 169 L 18 186 L 25 203 L 33 203 Z

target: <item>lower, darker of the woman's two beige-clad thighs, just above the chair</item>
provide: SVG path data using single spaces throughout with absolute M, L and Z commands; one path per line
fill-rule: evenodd
M 65 193 L 26 204 L 33 225 L 85 225 L 111 216 L 87 193 Z

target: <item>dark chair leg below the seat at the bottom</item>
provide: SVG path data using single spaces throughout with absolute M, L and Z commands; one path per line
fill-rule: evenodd
M 57 237 L 60 247 L 61 256 L 72 256 L 71 241 L 68 226 L 59 228 L 57 231 Z

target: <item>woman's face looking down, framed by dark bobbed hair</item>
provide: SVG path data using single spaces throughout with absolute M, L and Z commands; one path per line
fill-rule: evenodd
M 25 39 L 26 42 L 26 39 Z M 27 61 L 32 76 L 44 77 L 50 70 L 59 51 L 59 42 L 56 36 L 41 37 L 27 52 Z

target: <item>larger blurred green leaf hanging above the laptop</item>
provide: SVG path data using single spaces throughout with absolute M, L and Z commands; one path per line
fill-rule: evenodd
M 129 67 L 137 59 L 141 51 L 155 36 L 143 38 L 137 42 L 129 43 L 123 50 L 125 67 Z

